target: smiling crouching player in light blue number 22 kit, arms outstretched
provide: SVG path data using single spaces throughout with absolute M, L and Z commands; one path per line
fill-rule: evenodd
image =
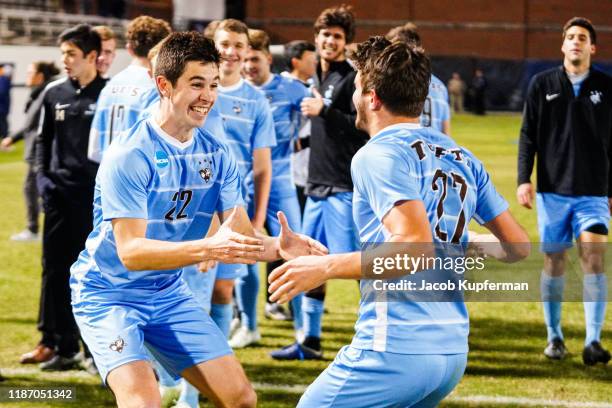
M 182 267 L 325 253 L 291 231 L 282 213 L 278 238 L 253 230 L 236 161 L 201 129 L 217 97 L 218 64 L 203 35 L 170 35 L 155 70 L 159 112 L 121 135 L 98 172 L 100 215 L 71 268 L 70 287 L 81 334 L 119 406 L 161 404 L 145 347 L 215 405 L 255 406 L 240 363 L 193 299 Z M 202 238 L 215 213 L 223 224 Z

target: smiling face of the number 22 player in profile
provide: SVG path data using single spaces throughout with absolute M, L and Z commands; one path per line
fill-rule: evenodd
M 204 125 L 208 112 L 217 100 L 219 68 L 215 63 L 190 61 L 173 86 L 163 76 L 156 78 L 162 104 L 168 106 L 171 120 L 178 129 Z

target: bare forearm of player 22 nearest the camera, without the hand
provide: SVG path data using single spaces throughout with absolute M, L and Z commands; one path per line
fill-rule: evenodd
M 148 238 L 133 238 L 117 252 L 130 271 L 176 269 L 193 265 L 209 256 L 207 240 L 167 242 Z

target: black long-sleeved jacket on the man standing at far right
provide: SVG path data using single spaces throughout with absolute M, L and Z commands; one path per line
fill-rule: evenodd
M 518 183 L 528 183 L 537 155 L 537 189 L 612 196 L 612 78 L 591 69 L 578 97 L 563 67 L 529 85 L 519 142 Z

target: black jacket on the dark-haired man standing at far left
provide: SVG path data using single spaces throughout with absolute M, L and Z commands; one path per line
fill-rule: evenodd
M 93 190 L 98 164 L 87 159 L 89 128 L 106 79 L 86 87 L 69 78 L 45 89 L 36 140 L 36 168 L 58 188 Z

